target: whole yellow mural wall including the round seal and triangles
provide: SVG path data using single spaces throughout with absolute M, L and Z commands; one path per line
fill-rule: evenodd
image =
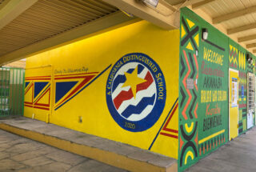
M 36 54 L 24 115 L 178 159 L 178 44 L 136 21 Z

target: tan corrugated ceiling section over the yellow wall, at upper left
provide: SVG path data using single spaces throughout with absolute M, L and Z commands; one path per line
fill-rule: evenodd
M 131 19 L 101 0 L 0 0 L 0 64 Z

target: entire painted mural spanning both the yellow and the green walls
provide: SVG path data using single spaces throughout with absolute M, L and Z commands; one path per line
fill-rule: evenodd
M 186 170 L 230 139 L 230 81 L 234 131 L 246 132 L 255 57 L 247 64 L 246 50 L 187 8 L 180 22 L 168 31 L 128 22 L 31 56 L 24 115 L 176 158 Z

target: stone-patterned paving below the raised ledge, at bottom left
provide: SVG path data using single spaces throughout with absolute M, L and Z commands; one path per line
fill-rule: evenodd
M 0 130 L 0 171 L 126 172 L 4 130 Z

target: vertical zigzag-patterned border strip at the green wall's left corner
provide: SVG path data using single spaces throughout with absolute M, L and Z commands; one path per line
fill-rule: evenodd
M 198 159 L 198 57 L 199 26 L 182 16 L 179 82 L 179 154 L 180 170 Z M 194 89 L 186 87 L 187 79 L 193 79 Z

